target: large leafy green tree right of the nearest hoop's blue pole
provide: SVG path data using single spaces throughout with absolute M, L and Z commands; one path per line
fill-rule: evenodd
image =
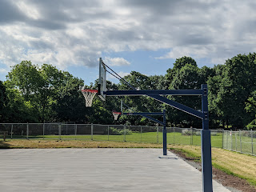
M 246 114 L 246 100 L 255 90 L 256 54 L 238 54 L 226 60 L 224 66 L 216 67 L 216 76 L 210 78 L 210 108 L 226 126 L 243 128 L 250 119 Z

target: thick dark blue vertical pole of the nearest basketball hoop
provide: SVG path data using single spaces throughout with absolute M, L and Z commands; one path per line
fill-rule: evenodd
M 201 149 L 202 149 L 202 191 L 212 192 L 212 163 L 211 163 L 211 144 L 209 130 L 209 114 L 207 100 L 207 85 L 202 85 L 202 130 L 201 130 Z

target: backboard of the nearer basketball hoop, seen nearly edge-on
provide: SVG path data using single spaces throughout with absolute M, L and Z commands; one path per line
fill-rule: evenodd
M 106 66 L 102 62 L 102 58 L 99 58 L 98 97 L 105 101 L 106 95 L 103 94 L 103 91 L 106 91 Z

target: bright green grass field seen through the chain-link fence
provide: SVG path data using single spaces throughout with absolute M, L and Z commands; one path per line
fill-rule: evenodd
M 248 136 L 242 135 L 239 137 L 236 134 L 229 134 L 230 132 L 214 133 L 211 135 L 211 146 L 224 148 L 228 150 L 235 150 L 245 154 L 256 154 L 256 142 L 252 143 L 252 139 Z M 29 139 L 74 139 L 74 140 L 94 140 L 94 141 L 115 141 L 115 142 L 146 142 L 146 143 L 162 143 L 162 132 L 136 132 L 133 131 L 129 134 L 69 134 L 69 135 L 12 135 L 13 138 L 29 138 Z M 7 138 L 10 138 L 8 135 Z M 201 145 L 201 136 L 198 134 L 188 135 L 179 132 L 167 133 L 167 143 L 168 144 L 181 144 L 181 145 Z

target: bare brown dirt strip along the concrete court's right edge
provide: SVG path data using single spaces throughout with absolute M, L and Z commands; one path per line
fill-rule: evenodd
M 186 157 L 186 154 L 180 150 L 170 150 L 172 153 L 177 154 L 178 157 L 184 159 L 184 161 L 190 163 L 198 170 L 202 170 L 201 162 L 198 162 L 198 158 Z M 213 167 L 213 178 L 215 181 L 226 186 L 231 191 L 242 191 L 242 192 L 256 192 L 254 186 L 250 186 L 249 182 L 245 179 L 235 177 L 234 175 L 226 174 L 222 170 L 218 170 Z

